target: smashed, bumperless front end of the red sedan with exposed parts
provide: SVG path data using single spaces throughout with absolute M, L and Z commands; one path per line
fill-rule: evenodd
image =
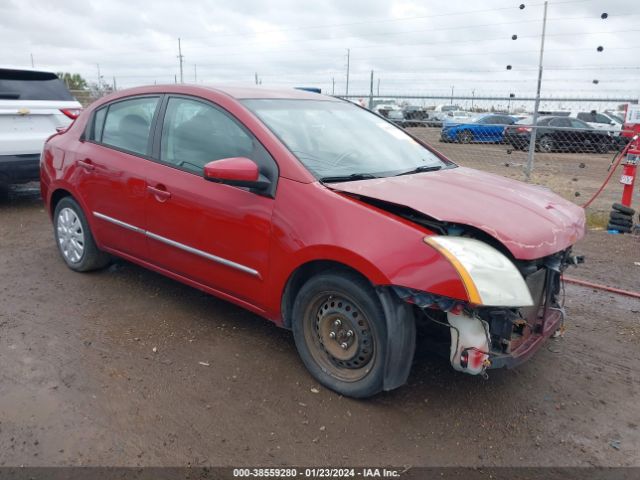
M 562 272 L 569 265 L 582 263 L 583 258 L 573 256 L 568 248 L 537 260 L 508 261 L 518 272 L 520 284 L 524 280 L 530 297 L 528 301 L 522 300 L 513 306 L 508 306 L 504 301 L 496 301 L 499 306 L 489 305 L 491 301 L 460 302 L 393 287 L 402 300 L 413 304 L 421 312 L 423 323 L 429 324 L 431 330 L 429 340 L 437 342 L 440 339 L 440 350 L 442 353 L 448 350 L 449 360 L 455 370 L 486 375 L 487 369 L 513 368 L 531 357 L 546 339 L 563 328 Z M 492 267 L 495 269 L 496 265 Z M 513 288 L 508 283 L 514 281 L 513 278 L 508 279 L 503 285 Z M 486 298 L 487 293 L 480 289 L 480 295 L 483 294 Z M 522 297 L 522 292 L 519 295 Z M 442 348 L 445 342 L 448 343 L 448 349 Z

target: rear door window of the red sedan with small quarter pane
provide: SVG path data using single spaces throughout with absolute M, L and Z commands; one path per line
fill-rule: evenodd
M 106 111 L 101 143 L 147 155 L 151 122 L 157 106 L 158 97 L 132 98 L 112 103 Z M 98 122 L 98 112 L 94 125 Z

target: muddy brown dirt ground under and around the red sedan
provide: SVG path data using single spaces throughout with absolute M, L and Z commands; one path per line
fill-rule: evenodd
M 570 273 L 637 290 L 637 240 L 590 232 Z M 0 465 L 640 466 L 640 300 L 569 285 L 567 312 L 516 370 L 419 348 L 407 386 L 351 400 L 251 313 L 122 261 L 70 271 L 21 189 L 0 203 Z

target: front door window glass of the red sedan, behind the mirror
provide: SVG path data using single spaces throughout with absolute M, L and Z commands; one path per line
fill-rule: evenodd
M 202 174 L 204 166 L 214 160 L 253 159 L 255 143 L 222 110 L 189 98 L 169 99 L 162 126 L 162 162 Z

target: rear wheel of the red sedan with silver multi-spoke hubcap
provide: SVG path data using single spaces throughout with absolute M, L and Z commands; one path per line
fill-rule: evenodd
M 53 231 L 58 251 L 71 270 L 88 272 L 109 264 L 109 255 L 96 246 L 87 218 L 73 198 L 64 197 L 56 205 Z

